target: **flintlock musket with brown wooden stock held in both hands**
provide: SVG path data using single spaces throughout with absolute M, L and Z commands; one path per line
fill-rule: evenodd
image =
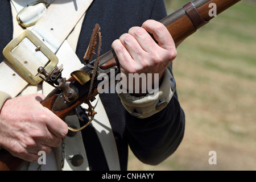
M 194 0 L 186 3 L 160 22 L 167 27 L 175 44 L 179 44 L 216 15 L 229 9 L 239 1 L 241 0 Z M 212 11 L 216 11 L 216 15 Z M 94 43 L 95 40 L 93 40 Z M 46 73 L 43 68 L 39 68 L 39 73 L 44 75 L 44 78 L 42 78 L 55 86 L 55 89 L 48 94 L 41 104 L 61 119 L 64 119 L 67 115 L 75 113 L 76 108 L 86 102 L 89 106 L 88 115 L 92 120 L 96 113 L 90 105 L 90 101 L 98 94 L 97 85 L 100 82 L 97 79 L 91 82 L 92 77 L 97 77 L 100 73 L 106 73 L 110 76 L 110 69 L 114 69 L 115 73 L 119 72 L 118 59 L 113 49 L 98 57 L 97 67 L 94 67 L 95 62 L 96 60 L 90 61 L 80 70 L 72 72 L 71 77 L 67 80 L 61 77 L 62 68 L 57 68 L 51 73 Z M 61 80 L 59 85 L 56 85 L 56 80 Z M 77 131 L 71 127 L 69 127 L 69 130 Z M 24 160 L 12 156 L 6 150 L 0 150 L 1 171 L 18 170 L 23 162 Z

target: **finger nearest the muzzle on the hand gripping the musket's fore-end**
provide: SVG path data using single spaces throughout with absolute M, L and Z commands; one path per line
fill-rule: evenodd
M 172 39 L 170 32 L 162 23 L 155 20 L 147 20 L 142 24 L 142 28 L 154 36 L 160 47 L 164 49 L 175 48 L 174 39 Z

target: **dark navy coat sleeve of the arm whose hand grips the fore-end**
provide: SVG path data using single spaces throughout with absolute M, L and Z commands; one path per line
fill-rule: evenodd
M 163 1 L 155 1 L 151 12 L 151 19 L 164 18 L 166 10 Z M 168 69 L 172 74 L 171 65 Z M 159 164 L 173 154 L 183 139 L 184 129 L 185 115 L 176 90 L 167 106 L 149 117 L 139 118 L 126 112 L 126 132 L 130 148 L 146 164 Z

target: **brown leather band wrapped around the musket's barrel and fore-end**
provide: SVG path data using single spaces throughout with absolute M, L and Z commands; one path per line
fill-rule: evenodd
M 199 14 L 199 12 L 196 10 L 196 7 L 193 5 L 192 2 L 188 2 L 183 6 L 186 14 L 188 15 L 189 19 L 191 19 L 191 22 L 195 26 L 196 30 L 204 24 L 207 24 L 208 22 L 205 21 L 202 16 Z

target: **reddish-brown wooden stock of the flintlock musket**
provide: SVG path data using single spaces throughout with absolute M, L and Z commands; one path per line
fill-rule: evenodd
M 196 32 L 197 29 L 207 24 L 210 19 L 214 18 L 209 14 L 209 11 L 216 5 L 217 15 L 222 11 L 225 11 L 229 7 L 233 6 L 241 0 L 194 0 L 188 2 L 186 5 L 181 7 L 179 10 L 174 13 L 166 16 L 166 18 L 160 20 L 163 23 L 172 38 L 174 39 L 175 44 L 179 44 L 189 35 L 192 35 Z M 210 3 L 214 3 L 211 4 Z M 209 6 L 210 5 L 210 6 Z M 105 53 L 100 57 L 99 67 L 101 69 L 112 68 L 114 65 L 118 65 L 117 57 L 113 50 Z M 93 90 L 93 96 L 97 94 L 97 89 Z M 56 94 L 51 94 L 47 96 L 46 99 L 42 102 L 43 106 L 48 107 L 51 110 L 52 103 L 56 98 Z M 87 99 L 87 96 L 82 96 L 73 103 L 71 107 L 65 109 L 60 113 L 55 113 L 61 119 L 64 119 L 73 109 L 80 104 L 82 104 Z M 22 166 L 24 160 L 12 156 L 9 152 L 5 150 L 0 150 L 0 170 L 1 171 L 10 171 L 18 170 Z

